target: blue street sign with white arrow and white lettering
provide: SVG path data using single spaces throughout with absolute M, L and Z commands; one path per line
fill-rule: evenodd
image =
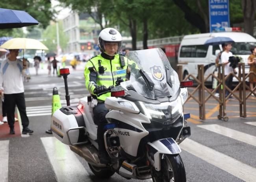
M 209 0 L 210 32 L 230 27 L 228 0 Z

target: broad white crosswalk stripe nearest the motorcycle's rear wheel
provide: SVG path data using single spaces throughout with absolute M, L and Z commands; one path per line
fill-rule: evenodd
M 88 179 L 89 174 L 69 146 L 54 137 L 43 137 L 41 141 L 58 182 L 91 182 Z

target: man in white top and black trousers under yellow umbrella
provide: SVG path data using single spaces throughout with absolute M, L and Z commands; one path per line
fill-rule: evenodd
M 29 120 L 26 114 L 24 86 L 22 82 L 22 69 L 26 69 L 26 60 L 17 59 L 19 49 L 10 49 L 9 57 L 4 60 L 0 68 L 0 93 L 4 91 L 4 101 L 7 110 L 7 119 L 10 127 L 10 135 L 15 134 L 15 105 L 17 105 L 21 123 L 22 134 L 31 134 L 33 130 L 28 128 Z

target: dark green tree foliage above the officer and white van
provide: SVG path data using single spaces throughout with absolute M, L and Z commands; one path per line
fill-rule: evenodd
M 150 39 L 200 33 L 198 27 L 191 25 L 185 19 L 186 11 L 182 11 L 173 0 L 60 0 L 60 2 L 71 6 L 79 13 L 89 13 L 102 29 L 104 28 L 102 15 L 104 15 L 109 22 L 106 27 L 117 26 L 122 35 L 131 32 L 130 22 L 136 20 L 137 40 L 143 39 L 145 21 Z M 202 17 L 203 23 L 206 28 L 208 27 L 208 0 L 182 0 L 182 3 Z M 230 24 L 237 22 L 243 22 L 241 0 L 230 0 Z

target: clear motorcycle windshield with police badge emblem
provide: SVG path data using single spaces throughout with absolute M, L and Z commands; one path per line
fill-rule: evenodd
M 126 57 L 131 73 L 129 84 L 138 94 L 156 99 L 173 96 L 178 91 L 178 74 L 171 67 L 162 49 L 129 51 Z

